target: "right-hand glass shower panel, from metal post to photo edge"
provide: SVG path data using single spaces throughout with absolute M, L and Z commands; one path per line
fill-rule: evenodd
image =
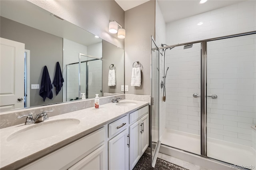
M 207 42 L 207 156 L 234 168 L 256 169 L 255 52 L 256 34 Z

